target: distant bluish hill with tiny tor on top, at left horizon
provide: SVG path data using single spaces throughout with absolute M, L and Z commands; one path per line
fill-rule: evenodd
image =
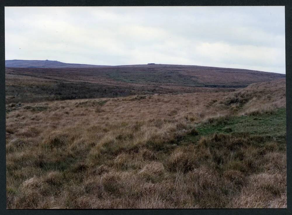
M 90 64 L 62 63 L 60 61 L 6 60 L 5 67 L 15 68 L 96 68 L 105 67 Z

